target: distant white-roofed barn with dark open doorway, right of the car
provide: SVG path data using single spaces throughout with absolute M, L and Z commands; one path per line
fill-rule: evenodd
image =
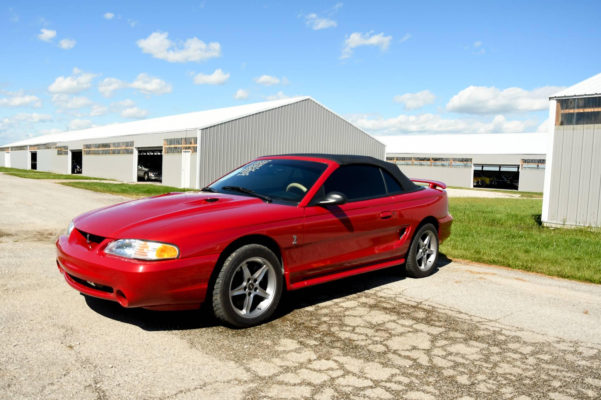
M 380 136 L 386 160 L 411 178 L 448 186 L 542 192 L 546 133 Z

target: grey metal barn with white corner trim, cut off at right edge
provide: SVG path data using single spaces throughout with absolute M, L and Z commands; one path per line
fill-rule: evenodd
M 549 100 L 543 224 L 601 227 L 601 74 Z

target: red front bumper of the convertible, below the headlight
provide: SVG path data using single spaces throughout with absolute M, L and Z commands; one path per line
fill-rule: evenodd
M 111 240 L 87 243 L 77 229 L 56 240 L 56 265 L 71 287 L 124 307 L 190 309 L 204 302 L 219 254 L 130 260 L 102 251 Z

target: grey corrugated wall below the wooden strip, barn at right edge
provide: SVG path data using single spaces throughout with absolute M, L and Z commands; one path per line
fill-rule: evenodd
M 601 226 L 601 124 L 555 127 L 548 221 Z

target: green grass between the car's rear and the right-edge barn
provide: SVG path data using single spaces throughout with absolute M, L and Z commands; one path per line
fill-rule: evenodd
M 601 231 L 540 224 L 542 200 L 451 198 L 450 258 L 601 284 Z

